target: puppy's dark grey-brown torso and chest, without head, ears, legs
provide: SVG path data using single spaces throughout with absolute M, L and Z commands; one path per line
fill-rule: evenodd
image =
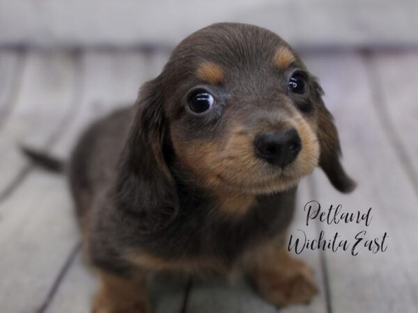
M 116 207 L 112 187 L 132 116 L 132 108 L 128 108 L 95 122 L 70 162 L 70 185 L 79 218 L 86 224 L 82 227 L 88 228 L 86 244 L 94 264 L 129 275 L 135 258 L 141 259 L 143 253 L 167 264 L 202 264 L 191 271 L 231 270 L 246 250 L 275 240 L 286 230 L 293 216 L 296 187 L 258 195 L 246 214 L 231 218 L 217 213 L 216 195 L 183 182 L 185 172 L 179 170 L 184 169 L 176 168 L 176 162 L 170 170 L 178 176 L 181 211 L 141 216 Z M 179 269 L 184 269 L 181 265 Z

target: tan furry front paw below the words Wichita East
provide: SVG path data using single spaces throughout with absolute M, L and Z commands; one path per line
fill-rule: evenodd
M 256 284 L 266 300 L 279 306 L 309 303 L 318 294 L 311 268 L 293 258 L 284 266 L 261 270 Z

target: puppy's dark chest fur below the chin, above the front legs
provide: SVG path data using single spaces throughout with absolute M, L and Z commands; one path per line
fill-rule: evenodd
M 210 201 L 189 200 L 150 252 L 164 259 L 214 258 L 231 266 L 248 248 L 286 230 L 294 198 L 294 191 L 257 198 L 242 216 L 224 216 Z

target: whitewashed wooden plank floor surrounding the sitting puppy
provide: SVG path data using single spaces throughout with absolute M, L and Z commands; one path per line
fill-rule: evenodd
M 67 157 L 91 120 L 131 102 L 167 55 L 141 51 L 0 51 L 0 312 L 89 312 L 93 275 L 64 177 L 44 172 L 18 150 L 24 143 Z M 418 53 L 305 54 L 335 116 L 343 163 L 359 187 L 341 195 L 320 170 L 300 187 L 290 234 L 369 238 L 385 232 L 387 251 L 359 255 L 306 251 L 320 294 L 281 312 L 418 312 Z M 362 224 L 305 225 L 303 204 L 344 211 L 373 207 Z M 278 312 L 247 284 L 163 277 L 152 282 L 154 312 Z

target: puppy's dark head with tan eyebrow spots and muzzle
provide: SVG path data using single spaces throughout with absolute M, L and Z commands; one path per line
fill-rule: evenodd
M 319 165 L 337 189 L 350 191 L 321 95 L 278 35 L 246 24 L 208 26 L 180 42 L 142 89 L 132 160 L 171 180 L 167 144 L 199 184 L 251 194 L 291 188 Z

